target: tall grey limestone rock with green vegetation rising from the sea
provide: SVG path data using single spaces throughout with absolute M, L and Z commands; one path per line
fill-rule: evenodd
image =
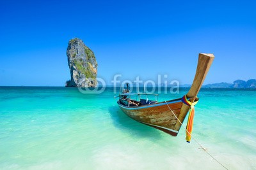
M 79 38 L 70 39 L 67 48 L 71 79 L 66 87 L 95 87 L 97 85 L 97 60 L 88 46 Z

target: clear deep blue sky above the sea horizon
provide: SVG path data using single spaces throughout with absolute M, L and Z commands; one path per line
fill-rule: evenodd
M 198 53 L 214 53 L 205 83 L 256 78 L 255 1 L 1 1 L 0 85 L 63 86 L 67 44 L 93 50 L 98 76 L 191 83 Z

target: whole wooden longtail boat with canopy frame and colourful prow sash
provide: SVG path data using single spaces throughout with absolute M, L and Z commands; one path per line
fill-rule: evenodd
M 128 117 L 172 136 L 177 136 L 190 110 L 186 127 L 186 140 L 189 142 L 193 128 L 194 105 L 198 101 L 197 94 L 211 67 L 213 59 L 214 55 L 211 53 L 199 53 L 196 74 L 191 88 L 188 94 L 179 99 L 158 102 L 157 94 L 132 94 L 129 92 L 127 85 L 127 89 L 120 92 L 117 104 Z M 132 99 L 132 96 L 136 96 L 136 99 Z M 143 99 L 142 96 L 146 96 L 146 99 Z M 155 96 L 156 99 L 148 100 L 148 96 Z

